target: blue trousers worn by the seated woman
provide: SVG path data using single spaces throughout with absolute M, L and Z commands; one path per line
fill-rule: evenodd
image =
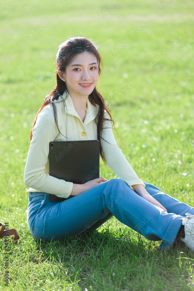
M 159 249 L 172 247 L 182 225 L 178 216 L 194 208 L 163 193 L 156 186 L 146 183 L 145 189 L 168 213 L 148 202 L 117 178 L 101 183 L 92 189 L 63 202 L 50 202 L 49 194 L 29 193 L 27 221 L 34 239 L 65 239 L 85 230 L 95 230 L 114 216 L 116 219 L 143 235 L 146 239 L 162 240 Z

